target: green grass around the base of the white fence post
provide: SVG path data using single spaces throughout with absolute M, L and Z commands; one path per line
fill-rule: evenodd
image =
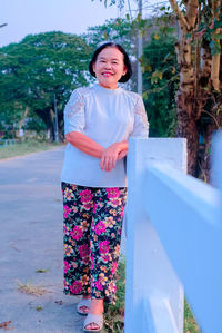
M 125 261 L 121 258 L 118 266 L 117 304 L 104 307 L 104 330 L 107 333 L 120 333 L 124 331 L 124 290 L 125 290 Z M 184 304 L 184 333 L 200 333 L 200 329 L 189 307 Z

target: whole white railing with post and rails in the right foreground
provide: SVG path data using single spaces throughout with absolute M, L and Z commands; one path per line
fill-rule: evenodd
M 214 150 L 219 189 L 185 174 L 184 139 L 130 141 L 125 333 L 182 333 L 183 287 L 201 332 L 222 333 L 222 134 Z

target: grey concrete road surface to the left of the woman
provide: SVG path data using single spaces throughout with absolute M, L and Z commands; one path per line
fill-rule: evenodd
M 14 333 L 82 332 L 78 298 L 62 294 L 62 160 L 59 148 L 0 163 L 0 324 Z M 47 293 L 21 293 L 17 281 Z

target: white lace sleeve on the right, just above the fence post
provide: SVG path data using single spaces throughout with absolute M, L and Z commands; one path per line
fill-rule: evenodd
M 149 134 L 149 123 L 145 112 L 145 107 L 141 96 L 138 97 L 134 107 L 134 125 L 133 131 L 131 133 L 131 137 L 148 137 Z

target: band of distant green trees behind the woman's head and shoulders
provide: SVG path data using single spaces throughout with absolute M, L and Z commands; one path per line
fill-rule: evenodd
M 21 42 L 0 49 L 0 124 L 19 128 L 48 129 L 54 139 L 54 97 L 60 134 L 63 131 L 63 108 L 72 89 L 93 79 L 88 63 L 99 43 L 113 40 L 129 52 L 133 76 L 128 88 L 137 91 L 137 28 L 129 19 L 112 19 L 88 29 L 82 36 L 47 32 L 27 36 Z M 153 22 L 143 21 L 153 31 Z M 155 28 L 157 30 L 158 28 Z M 144 29 L 144 32 L 147 30 Z M 169 31 L 145 36 L 143 78 L 144 101 L 152 136 L 173 135 L 174 79 L 173 37 Z M 169 56 L 170 52 L 170 56 Z M 163 61 L 164 60 L 164 61 Z M 169 70 L 168 70 L 169 67 Z M 158 75 L 160 71 L 163 75 Z M 169 94 L 169 86 L 171 94 Z M 162 98 L 159 98 L 161 95 Z

